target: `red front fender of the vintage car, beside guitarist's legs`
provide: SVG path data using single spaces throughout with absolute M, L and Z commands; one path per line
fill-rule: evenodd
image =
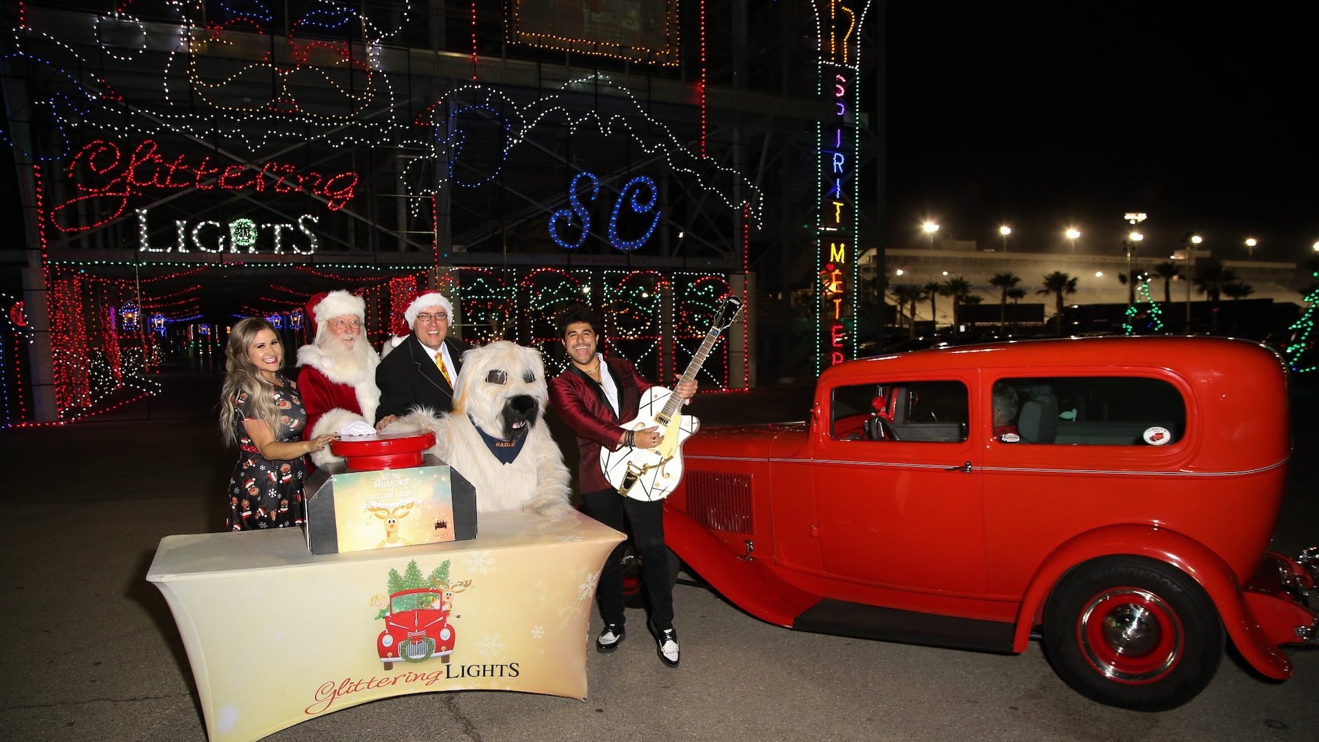
M 665 507 L 663 528 L 665 543 L 687 566 L 720 595 L 761 621 L 791 628 L 793 621 L 820 599 L 785 582 L 760 558 L 735 553 L 677 508 Z

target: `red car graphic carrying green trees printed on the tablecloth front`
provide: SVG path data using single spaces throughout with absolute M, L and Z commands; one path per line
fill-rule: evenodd
M 412 586 L 426 584 L 429 586 Z M 431 658 L 447 663 L 458 640 L 451 623 L 455 618 L 454 597 L 471 588 L 472 581 L 451 582 L 448 560 L 431 572 L 429 578 L 422 578 L 414 560 L 408 564 L 402 576 L 390 569 L 389 585 L 392 591 L 388 598 L 376 595 L 371 599 L 372 607 L 380 610 L 376 618 L 385 622 L 384 631 L 376 639 L 384 668 L 393 669 L 396 661 L 419 663 Z

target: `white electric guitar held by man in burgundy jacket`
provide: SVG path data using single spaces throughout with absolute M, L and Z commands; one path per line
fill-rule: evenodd
M 741 308 L 740 298 L 724 298 L 719 313 L 715 314 L 714 325 L 706 333 L 706 339 L 700 342 L 687 370 L 678 379 L 679 384 L 696 378 L 706 356 L 719 341 L 719 333 L 733 323 Z M 616 452 L 600 448 L 604 478 L 619 490 L 620 495 L 634 500 L 662 500 L 678 487 L 678 481 L 682 479 L 682 444 L 700 429 L 700 420 L 690 415 L 678 415 L 679 409 L 682 397 L 663 387 L 650 387 L 641 395 L 637 419 L 624 422 L 623 426 L 628 430 L 658 428 L 663 436 L 660 445 L 653 449 L 623 446 Z

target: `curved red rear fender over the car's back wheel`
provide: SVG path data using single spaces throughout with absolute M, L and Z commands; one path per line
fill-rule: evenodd
M 1227 564 L 1199 541 L 1150 525 L 1099 528 L 1054 549 L 1035 570 L 1022 597 L 1013 651 L 1026 650 L 1030 632 L 1043 615 L 1045 602 L 1063 574 L 1084 561 L 1115 555 L 1148 557 L 1184 572 L 1213 601 L 1228 636 L 1250 667 L 1274 680 L 1291 676 L 1291 660 L 1260 628 Z

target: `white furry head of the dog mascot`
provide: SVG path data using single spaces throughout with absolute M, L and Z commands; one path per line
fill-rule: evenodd
M 487 436 L 512 441 L 541 421 L 549 392 L 541 354 L 496 341 L 463 354 L 454 415 L 467 415 Z

